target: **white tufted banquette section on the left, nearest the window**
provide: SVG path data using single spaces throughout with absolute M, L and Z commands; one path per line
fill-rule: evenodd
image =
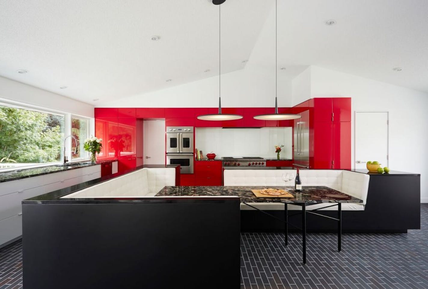
M 163 187 L 175 186 L 175 168 L 143 168 L 62 198 L 126 198 L 155 196 Z

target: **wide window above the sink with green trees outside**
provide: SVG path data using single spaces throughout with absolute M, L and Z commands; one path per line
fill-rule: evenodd
M 1 171 L 62 163 L 64 143 L 68 160 L 89 159 L 83 148 L 89 136 L 88 118 L 0 101 Z

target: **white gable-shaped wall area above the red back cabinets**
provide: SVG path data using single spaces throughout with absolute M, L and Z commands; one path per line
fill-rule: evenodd
M 273 64 L 274 65 L 274 64 Z M 221 76 L 223 107 L 274 107 L 275 67 L 246 66 Z M 102 107 L 218 107 L 218 76 L 103 103 Z M 291 81 L 278 79 L 278 106 L 291 105 Z

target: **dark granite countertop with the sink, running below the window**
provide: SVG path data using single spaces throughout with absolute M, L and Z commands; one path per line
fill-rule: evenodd
M 47 175 L 54 172 L 65 172 L 71 169 L 80 169 L 86 166 L 96 166 L 101 164 L 101 162 L 90 163 L 90 162 L 81 162 L 81 163 L 68 163 L 67 165 L 56 165 L 56 166 L 42 166 L 31 169 L 19 169 L 17 168 L 14 171 L 1 172 L 0 173 L 0 183 L 5 181 L 14 181 L 21 178 L 30 178 L 36 177 L 39 175 Z

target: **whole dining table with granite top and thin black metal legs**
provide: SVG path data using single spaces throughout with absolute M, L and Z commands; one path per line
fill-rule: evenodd
M 285 189 L 291 195 L 292 198 L 272 198 L 272 197 L 256 197 L 251 190 L 262 190 L 266 188 L 271 189 Z M 156 196 L 238 196 L 241 199 L 241 203 L 255 210 L 259 210 L 272 218 L 279 219 L 276 216 L 268 213 L 268 211 L 260 210 L 254 207 L 251 203 L 283 203 L 284 204 L 284 219 L 279 219 L 284 222 L 284 233 L 285 233 L 285 245 L 288 245 L 288 225 L 291 225 L 302 231 L 302 258 L 303 264 L 306 264 L 306 214 L 314 214 L 320 217 L 329 218 L 337 221 L 337 249 L 342 249 L 342 203 L 363 203 L 363 200 L 357 199 L 348 194 L 339 192 L 325 186 L 306 186 L 301 191 L 297 192 L 294 187 L 276 187 L 276 186 L 167 186 L 163 187 Z M 287 204 L 299 205 L 302 207 L 301 212 L 293 213 L 290 216 L 297 214 L 302 215 L 301 228 L 290 224 L 288 222 L 288 209 Z M 306 208 L 315 204 L 326 204 L 325 206 L 318 207 L 312 210 Z M 337 206 L 337 218 L 330 216 L 324 216 L 318 213 L 318 210 Z M 315 213 L 316 212 L 316 213 Z

